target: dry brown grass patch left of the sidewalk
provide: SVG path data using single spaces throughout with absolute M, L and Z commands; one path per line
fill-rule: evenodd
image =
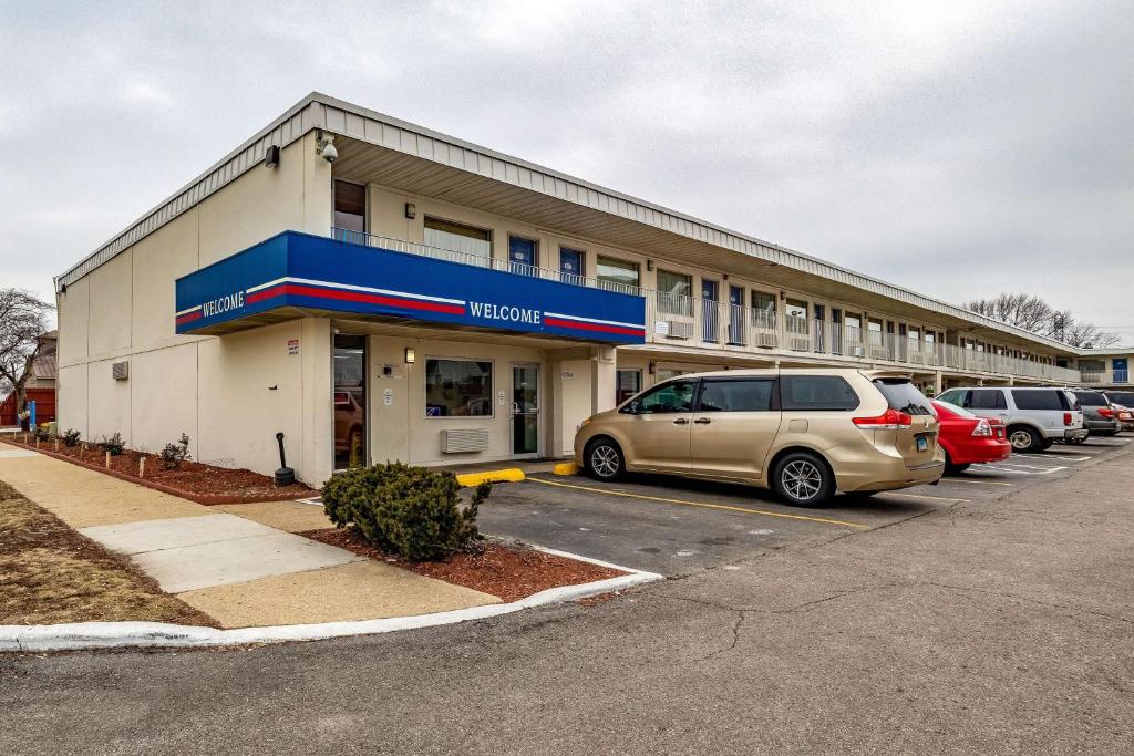
M 0 482 L 0 625 L 215 622 Z

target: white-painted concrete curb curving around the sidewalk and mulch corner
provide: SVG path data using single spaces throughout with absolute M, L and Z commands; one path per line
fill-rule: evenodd
M 396 630 L 456 625 L 547 606 L 663 579 L 657 572 L 634 570 L 553 549 L 534 546 L 542 552 L 567 557 L 581 562 L 623 570 L 623 575 L 582 585 L 548 588 L 508 604 L 472 606 L 451 612 L 415 617 L 389 617 L 380 620 L 322 622 L 318 625 L 280 625 L 276 627 L 214 628 L 171 625 L 168 622 L 74 622 L 69 625 L 0 625 L 0 653 L 81 651 L 98 648 L 202 648 L 211 646 L 245 646 L 289 640 L 323 640 L 358 635 L 378 635 Z

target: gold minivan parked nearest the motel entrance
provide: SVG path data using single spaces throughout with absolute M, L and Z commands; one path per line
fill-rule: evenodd
M 599 413 L 575 434 L 592 477 L 666 473 L 771 487 L 796 506 L 836 491 L 934 483 L 938 421 L 891 371 L 737 369 L 682 375 Z

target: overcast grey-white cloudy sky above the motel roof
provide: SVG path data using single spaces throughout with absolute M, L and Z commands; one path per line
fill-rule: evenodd
M 0 286 L 312 90 L 939 298 L 1134 341 L 1134 6 L 0 0 Z

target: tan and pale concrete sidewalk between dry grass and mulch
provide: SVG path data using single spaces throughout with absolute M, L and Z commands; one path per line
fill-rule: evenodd
M 500 601 L 295 535 L 330 527 L 314 504 L 204 507 L 3 443 L 0 479 L 129 555 L 163 591 L 226 628 L 405 617 Z

